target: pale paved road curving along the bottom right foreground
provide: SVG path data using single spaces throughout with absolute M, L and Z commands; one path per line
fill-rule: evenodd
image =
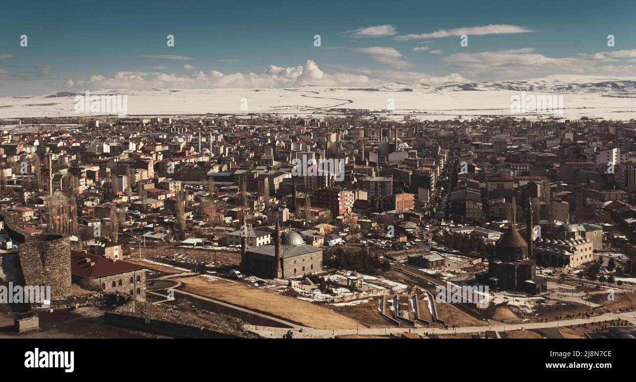
M 294 336 L 297 338 L 302 337 L 312 337 L 312 338 L 332 338 L 333 336 L 346 336 L 351 334 L 360 334 L 366 336 L 383 336 L 385 334 L 394 333 L 404 333 L 405 331 L 410 331 L 411 333 L 417 334 L 454 334 L 454 333 L 477 333 L 484 332 L 487 330 L 494 331 L 513 331 L 513 330 L 522 330 L 522 329 L 543 329 L 548 327 L 561 327 L 561 326 L 570 326 L 570 325 L 581 325 L 581 324 L 591 324 L 593 322 L 602 322 L 609 320 L 628 320 L 632 322 L 632 324 L 636 324 L 636 317 L 634 317 L 636 313 L 634 312 L 625 312 L 625 313 L 605 313 L 604 315 L 599 315 L 596 317 L 591 317 L 590 319 L 572 319 L 572 320 L 559 320 L 559 321 L 550 321 L 550 322 L 532 322 L 532 323 L 524 323 L 524 324 L 503 324 L 502 322 L 488 321 L 488 326 L 466 326 L 459 327 L 456 329 L 438 329 L 438 328 L 391 328 L 391 329 L 378 329 L 378 328 L 360 328 L 360 329 L 331 329 L 331 330 L 322 330 L 322 329 L 311 329 L 304 328 L 300 333 L 297 329 L 292 329 L 294 332 Z M 245 326 L 249 331 L 259 334 L 265 338 L 280 338 L 282 334 L 287 333 L 289 329 L 281 329 L 275 327 L 259 327 L 259 326 Z

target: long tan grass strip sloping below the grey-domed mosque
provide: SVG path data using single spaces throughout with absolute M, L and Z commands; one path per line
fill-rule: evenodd
M 225 301 L 317 329 L 353 329 L 360 324 L 333 310 L 297 298 L 223 279 L 179 277 L 186 292 Z

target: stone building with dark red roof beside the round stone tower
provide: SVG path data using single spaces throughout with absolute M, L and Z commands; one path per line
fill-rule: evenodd
M 146 268 L 127 261 L 71 251 L 71 277 L 87 289 L 130 294 L 146 301 Z

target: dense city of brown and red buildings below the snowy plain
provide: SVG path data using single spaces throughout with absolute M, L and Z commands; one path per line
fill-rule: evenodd
M 5 325 L 633 336 L 636 121 L 339 111 L 0 121 Z

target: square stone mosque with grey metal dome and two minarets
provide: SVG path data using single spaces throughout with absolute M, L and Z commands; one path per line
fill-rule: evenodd
M 242 238 L 242 272 L 263 279 L 294 279 L 322 271 L 322 249 L 305 244 L 298 232 L 280 234 L 276 221 L 274 244 L 247 249 Z

